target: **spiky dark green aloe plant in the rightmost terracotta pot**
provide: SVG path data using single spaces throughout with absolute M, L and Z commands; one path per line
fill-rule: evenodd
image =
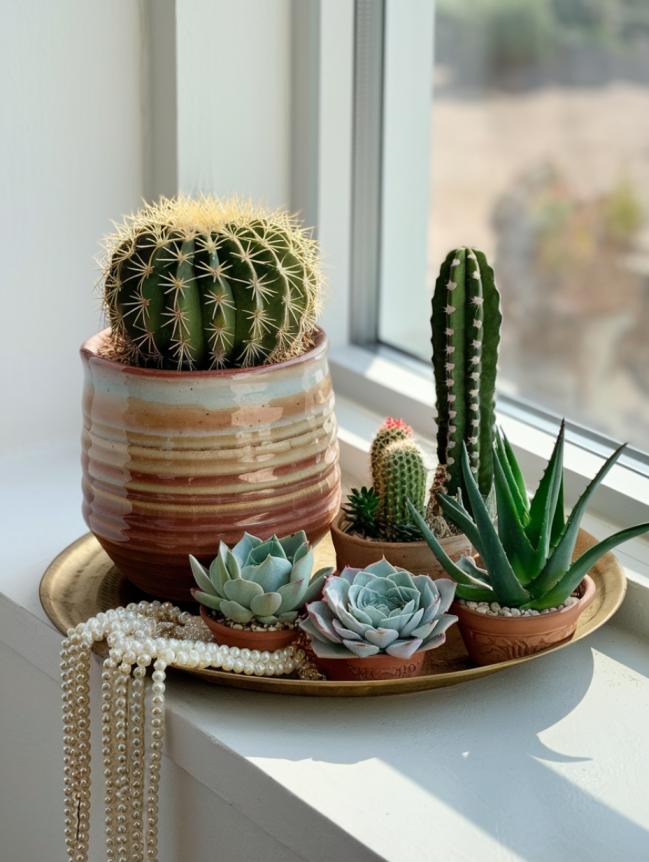
M 563 507 L 564 423 L 543 477 L 530 498 L 514 452 L 502 433 L 496 435 L 494 481 L 497 519 L 492 522 L 462 449 L 462 476 L 469 509 L 439 494 L 445 517 L 466 534 L 485 568 L 470 557 L 453 562 L 421 517 L 410 507 L 428 546 L 458 584 L 458 598 L 498 602 L 514 608 L 545 610 L 561 605 L 588 570 L 612 548 L 649 531 L 649 523 L 627 527 L 598 542 L 573 560 L 579 526 L 594 491 L 620 457 L 620 446 L 606 460 L 566 518 Z

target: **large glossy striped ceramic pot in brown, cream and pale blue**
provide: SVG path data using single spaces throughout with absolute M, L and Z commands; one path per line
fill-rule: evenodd
M 189 601 L 187 555 L 219 540 L 326 534 L 340 504 L 327 341 L 272 366 L 135 368 L 81 347 L 83 514 L 108 556 L 145 593 Z

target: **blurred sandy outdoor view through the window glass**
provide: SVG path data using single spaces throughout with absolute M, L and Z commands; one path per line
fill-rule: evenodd
M 436 10 L 430 288 L 450 248 L 482 248 L 501 391 L 647 451 L 649 2 Z M 429 359 L 418 315 L 381 335 Z

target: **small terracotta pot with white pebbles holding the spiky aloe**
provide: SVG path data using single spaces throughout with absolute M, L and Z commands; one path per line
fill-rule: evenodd
M 595 598 L 595 582 L 589 575 L 577 592 L 579 601 L 571 607 L 533 617 L 490 617 L 459 602 L 453 603 L 451 611 L 458 616 L 472 661 L 478 665 L 496 664 L 532 655 L 572 637 L 580 614 Z

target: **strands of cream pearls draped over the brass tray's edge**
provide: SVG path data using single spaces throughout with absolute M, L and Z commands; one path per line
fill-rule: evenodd
M 88 860 L 90 653 L 98 641 L 108 645 L 101 674 L 106 859 L 155 862 L 167 667 L 213 667 L 249 676 L 281 676 L 304 666 L 305 654 L 292 646 L 259 652 L 214 643 L 199 617 L 169 602 L 130 604 L 69 629 L 61 646 L 61 685 L 65 845 L 70 862 Z M 145 677 L 149 665 L 153 672 L 147 734 Z

